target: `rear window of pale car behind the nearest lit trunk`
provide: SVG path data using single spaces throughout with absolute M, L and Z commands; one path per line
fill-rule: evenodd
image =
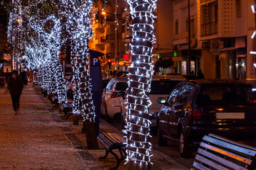
M 181 81 L 153 80 L 149 94 L 170 94 L 171 90 Z

